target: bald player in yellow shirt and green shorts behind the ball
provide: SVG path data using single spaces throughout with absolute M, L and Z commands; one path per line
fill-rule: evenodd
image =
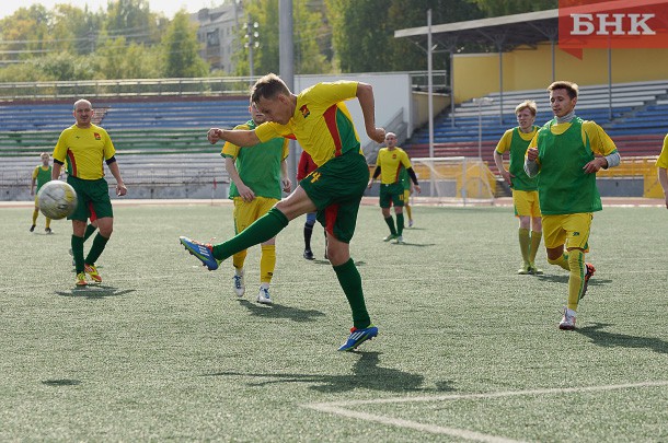
M 112 139 L 103 128 L 91 121 L 94 116 L 91 102 L 83 98 L 74 102 L 72 115 L 76 124 L 60 133 L 54 149 L 51 178 L 58 178 L 67 160 L 69 163 L 67 183 L 74 188 L 78 198 L 77 209 L 68 217 L 68 220 L 72 221 L 71 246 L 77 272 L 76 283 L 78 287 L 83 287 L 88 284 L 87 275 L 93 282 L 102 282 L 95 261 L 114 230 L 114 211 L 108 185 L 104 179 L 103 161 L 116 178 L 116 195 L 125 196 L 127 188 L 120 177 Z M 83 236 L 89 218 L 96 219 L 100 232 L 93 238 L 91 250 L 84 259 Z

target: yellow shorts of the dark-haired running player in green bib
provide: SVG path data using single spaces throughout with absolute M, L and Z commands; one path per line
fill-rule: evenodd
M 543 215 L 543 238 L 546 248 L 566 245 L 566 249 L 588 250 L 587 241 L 591 228 L 591 212 L 569 213 L 564 215 Z

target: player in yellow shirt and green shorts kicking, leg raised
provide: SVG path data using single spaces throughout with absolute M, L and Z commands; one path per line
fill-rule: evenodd
M 253 130 L 212 128 L 207 133 L 209 142 L 226 140 L 238 147 L 251 147 L 276 137 L 295 138 L 311 154 L 318 168 L 292 194 L 229 241 L 210 245 L 180 238 L 191 254 L 214 270 L 221 260 L 276 236 L 290 220 L 316 211 L 318 221 L 327 231 L 330 263 L 353 311 L 354 327 L 339 351 L 352 351 L 378 335 L 367 312 L 361 277 L 350 258 L 349 247 L 369 179 L 353 119 L 343 103 L 355 97 L 361 107 L 367 135 L 381 142 L 385 131 L 376 127 L 371 85 L 353 81 L 318 83 L 295 95 L 276 74 L 257 80 L 251 101 L 267 121 Z

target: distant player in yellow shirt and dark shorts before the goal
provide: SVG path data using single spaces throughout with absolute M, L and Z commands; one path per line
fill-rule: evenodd
M 406 174 L 413 180 L 417 193 L 419 193 L 419 185 L 417 184 L 417 177 L 413 171 L 408 154 L 396 145 L 396 135 L 394 132 L 385 133 L 384 142 L 385 148 L 381 148 L 378 151 L 376 171 L 373 171 L 373 176 L 369 179 L 368 187 L 371 188 L 373 180 L 380 175 L 380 211 L 388 228 L 390 228 L 390 234 L 383 241 L 389 242 L 394 240 L 395 243 L 401 244 L 404 243 L 404 186 L 399 179 L 401 168 L 405 167 Z M 394 214 L 396 215 L 396 228 L 394 228 L 394 219 L 392 219 L 392 213 L 390 212 L 392 206 L 394 206 Z

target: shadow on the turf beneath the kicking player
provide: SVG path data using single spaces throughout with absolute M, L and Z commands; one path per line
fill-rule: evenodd
M 321 393 L 345 393 L 357 388 L 383 390 L 392 393 L 404 392 L 452 392 L 451 382 L 437 383 L 436 388 L 422 387 L 424 376 L 391 368 L 379 366 L 379 352 L 350 352 L 358 357 L 353 364 L 352 374 L 346 375 L 312 375 L 312 374 L 249 374 L 242 372 L 218 372 L 203 376 L 246 376 L 263 378 L 249 383 L 249 386 L 267 386 L 278 383 L 308 383 L 312 390 Z

